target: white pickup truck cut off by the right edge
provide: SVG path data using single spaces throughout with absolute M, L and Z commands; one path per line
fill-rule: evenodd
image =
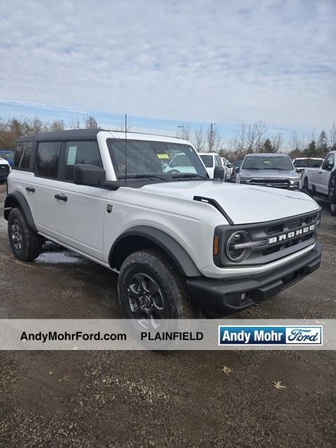
M 312 195 L 328 197 L 330 213 L 336 216 L 336 151 L 330 151 L 319 168 L 306 168 L 302 173 L 302 188 Z

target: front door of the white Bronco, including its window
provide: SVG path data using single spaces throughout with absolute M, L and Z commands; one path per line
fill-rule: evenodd
M 103 259 L 103 227 L 109 190 L 73 183 L 76 163 L 103 167 L 97 141 L 62 144 L 59 179 L 52 192 L 54 232 L 64 245 Z

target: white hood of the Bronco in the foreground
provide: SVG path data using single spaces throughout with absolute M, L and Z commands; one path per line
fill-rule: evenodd
M 305 193 L 238 183 L 218 181 L 152 183 L 142 187 L 141 190 L 186 200 L 193 200 L 194 196 L 214 199 L 235 224 L 273 221 L 309 213 L 319 208 L 318 204 Z

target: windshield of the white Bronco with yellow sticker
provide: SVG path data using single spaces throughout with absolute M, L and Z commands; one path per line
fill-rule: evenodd
M 107 146 L 118 179 L 125 178 L 125 139 L 108 139 Z M 127 140 L 127 178 L 176 176 L 208 178 L 200 158 L 188 145 L 162 141 Z

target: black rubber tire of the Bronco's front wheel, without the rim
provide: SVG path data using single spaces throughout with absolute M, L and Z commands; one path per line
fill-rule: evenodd
M 118 278 L 118 297 L 120 307 L 126 318 L 134 316 L 129 300 L 130 281 L 137 273 L 148 275 L 160 288 L 165 302 L 164 318 L 196 318 L 198 311 L 193 304 L 183 276 L 167 255 L 156 248 L 143 249 L 129 255 L 120 268 Z

